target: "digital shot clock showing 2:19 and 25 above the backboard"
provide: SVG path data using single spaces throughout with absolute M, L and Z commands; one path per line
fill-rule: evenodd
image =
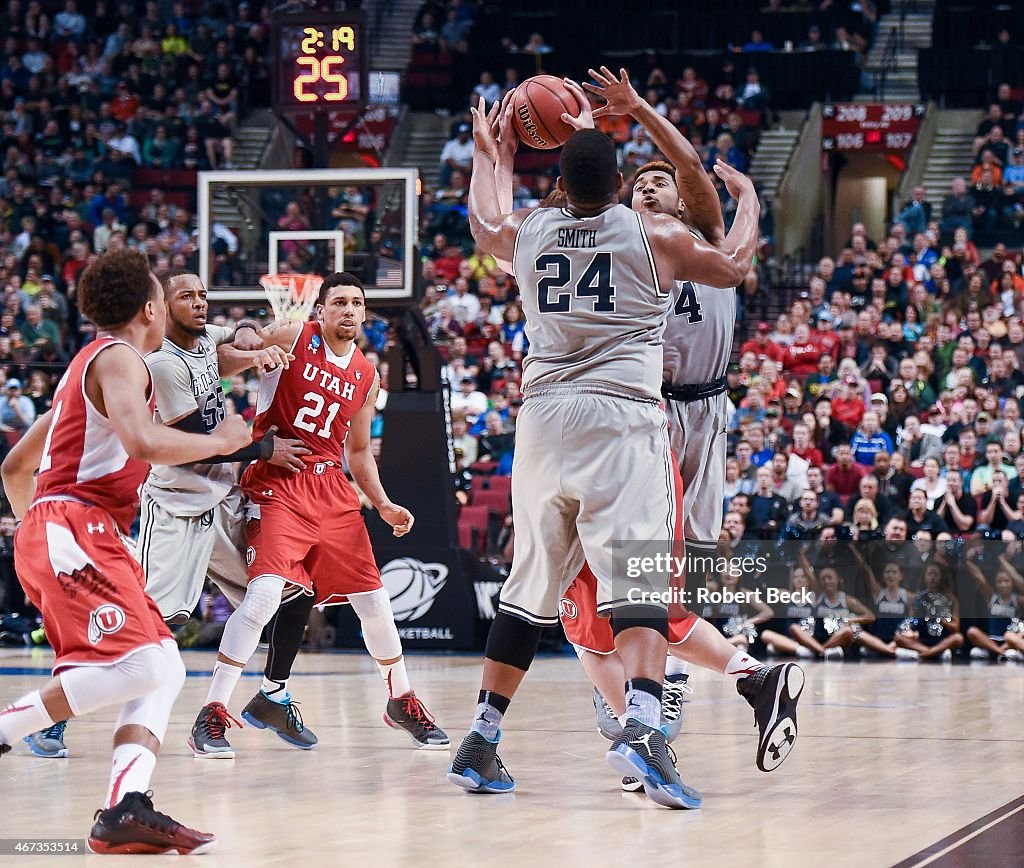
M 367 101 L 365 16 L 282 14 L 273 19 L 273 103 L 278 112 L 358 108 Z

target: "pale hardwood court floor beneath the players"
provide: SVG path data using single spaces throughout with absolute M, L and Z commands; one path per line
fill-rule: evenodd
M 458 743 L 479 659 L 409 660 L 418 692 Z M 193 676 L 212 661 L 209 653 L 185 654 Z M 0 651 L 0 702 L 40 684 L 48 664 L 40 652 Z M 414 750 L 387 729 L 383 688 L 365 655 L 303 654 L 292 692 L 319 745 L 301 752 L 247 727 L 229 731 L 237 760 L 194 760 L 184 740 L 207 680 L 190 677 L 157 769 L 156 804 L 218 835 L 218 853 L 203 858 L 209 868 L 839 868 L 897 863 L 1024 792 L 1024 667 L 806 668 L 800 740 L 770 775 L 754 766 L 753 715 L 732 685 L 710 672 L 694 676 L 676 748 L 683 779 L 703 793 L 696 812 L 618 792 L 603 761 L 606 742 L 594 730 L 590 688 L 570 657 L 539 660 L 506 719 L 502 756 L 518 784 L 514 795 L 462 792 L 444 780 L 447 753 Z M 233 713 L 257 686 L 242 681 Z M 88 831 L 106 782 L 115 719 L 111 710 L 73 723 L 70 760 L 38 760 L 18 744 L 0 761 L 0 838 Z M 639 856 L 643 848 L 653 861 Z

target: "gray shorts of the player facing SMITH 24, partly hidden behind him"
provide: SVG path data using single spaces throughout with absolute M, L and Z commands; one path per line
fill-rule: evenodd
M 667 400 L 672 451 L 683 477 L 683 537 L 715 542 L 722 530 L 728 396 Z

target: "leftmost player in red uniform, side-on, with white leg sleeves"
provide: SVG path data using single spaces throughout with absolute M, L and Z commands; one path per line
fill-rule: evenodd
M 82 274 L 79 304 L 96 340 L 72 360 L 52 408 L 3 464 L 4 489 L 23 519 L 17 575 L 43 613 L 56 661 L 41 690 L 0 710 L 0 755 L 55 721 L 120 705 L 110 789 L 89 849 L 206 853 L 213 835 L 159 814 L 146 794 L 185 670 L 124 536 L 151 463 L 198 462 L 251 437 L 241 418 L 205 436 L 154 421 L 142 355 L 160 346 L 167 307 L 145 257 L 100 257 Z

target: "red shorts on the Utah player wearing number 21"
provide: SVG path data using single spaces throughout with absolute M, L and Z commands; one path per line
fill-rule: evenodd
M 312 594 L 317 606 L 382 588 L 359 498 L 345 474 L 323 464 L 295 475 L 274 470 L 257 465 L 242 479 L 249 580 L 279 576 Z

